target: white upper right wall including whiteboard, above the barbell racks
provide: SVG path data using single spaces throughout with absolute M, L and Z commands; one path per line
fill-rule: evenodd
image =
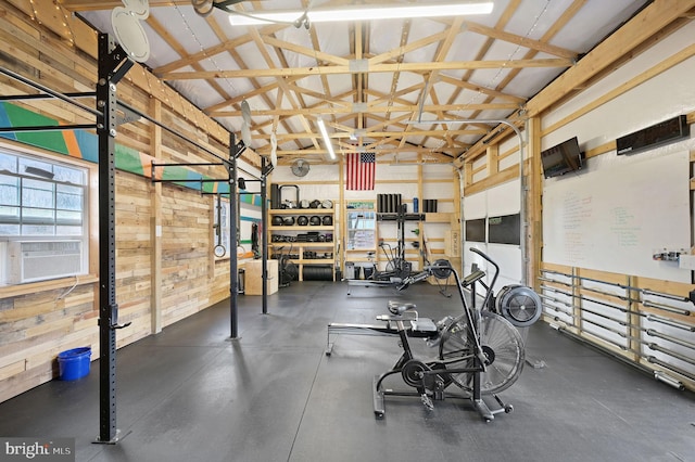
M 543 128 L 547 129 L 559 120 L 580 113 L 594 100 L 610 94 L 616 88 L 634 78 L 641 78 L 648 69 L 659 66 L 681 50 L 692 48 L 694 36 L 695 24 L 690 24 L 669 36 L 654 49 L 544 115 Z M 586 151 L 674 116 L 692 113 L 695 111 L 693 75 L 695 57 L 690 57 L 548 132 L 542 139 L 542 149 L 576 136 L 582 151 Z M 634 155 L 619 156 L 616 151 L 611 151 L 587 159 L 582 171 L 568 174 L 568 178 L 544 180 L 544 260 L 690 282 L 691 271 L 681 270 L 673 262 L 655 264 L 652 261 L 652 251 L 660 247 L 688 248 L 691 245 L 691 174 L 687 153 L 692 150 L 695 150 L 693 136 L 688 140 Z M 681 154 L 678 155 L 679 153 Z M 584 231 L 580 232 L 582 239 L 577 245 L 582 248 L 569 248 L 571 243 L 564 239 L 564 234 L 570 231 L 557 229 L 567 221 L 559 215 L 563 214 L 561 204 L 567 202 L 567 195 L 570 193 L 590 201 L 590 206 L 584 207 L 586 214 L 596 211 L 595 217 L 585 216 L 580 223 L 580 230 Z M 610 229 L 611 223 L 607 222 L 609 210 L 606 210 L 614 205 L 631 210 L 631 226 L 635 231 L 635 239 L 628 246 L 610 244 L 616 233 Z M 601 210 L 606 214 L 598 214 Z M 552 227 L 552 223 L 555 226 Z M 608 249 L 610 252 L 606 252 Z M 618 252 L 620 249 L 622 254 Z M 579 255 L 578 252 L 583 255 Z M 577 258 L 568 261 L 560 256 L 561 253 L 566 256 L 576 255 Z

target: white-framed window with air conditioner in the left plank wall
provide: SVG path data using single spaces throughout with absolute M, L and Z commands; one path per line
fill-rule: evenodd
M 87 272 L 87 169 L 0 149 L 0 282 Z

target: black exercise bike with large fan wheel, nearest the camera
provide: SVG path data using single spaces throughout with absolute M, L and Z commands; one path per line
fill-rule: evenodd
M 523 341 L 515 326 L 488 309 L 492 299 L 492 287 L 497 280 L 500 268 L 482 252 L 471 248 L 495 268 L 490 285 L 485 287 L 485 295 L 481 308 L 477 308 L 476 283 L 480 282 L 485 272 L 475 269 L 463 280 L 451 265 L 439 262 L 425 271 L 406 278 L 402 285 L 409 285 L 425 280 L 432 271 L 447 270 L 454 275 L 460 296 L 464 312 L 456 317 L 447 317 L 434 323 L 419 318 L 413 304 L 389 303 L 389 315 L 381 315 L 377 320 L 388 324 L 395 323 L 400 345 L 403 354 L 395 365 L 374 380 L 374 411 L 377 419 L 386 413 L 386 396 L 416 396 L 428 409 L 434 408 L 434 400 L 445 397 L 469 399 L 480 415 L 490 422 L 501 412 L 511 412 L 513 406 L 505 405 L 497 396 L 510 387 L 520 376 L 525 363 Z M 464 290 L 470 287 L 471 303 L 466 300 Z M 430 345 L 438 345 L 438 356 L 434 359 L 418 359 L 414 356 L 409 344 L 410 337 L 424 336 Z M 403 382 L 416 392 L 395 392 L 384 386 L 384 380 L 400 374 Z M 447 388 L 458 387 L 457 394 L 450 394 Z M 491 410 L 483 400 L 483 395 L 492 396 L 498 407 Z

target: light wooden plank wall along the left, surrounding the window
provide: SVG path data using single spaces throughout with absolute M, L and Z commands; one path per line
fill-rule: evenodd
M 41 17 L 35 18 L 34 10 Z M 61 16 L 60 21 L 54 21 L 50 14 L 55 11 L 55 4 L 50 0 L 34 0 L 30 4 L 24 0 L 2 2 L 0 66 L 56 91 L 93 91 L 96 33 L 73 17 Z M 68 23 L 67 28 L 62 26 L 63 21 Z M 34 91 L 0 76 L 0 94 L 27 92 Z M 226 131 L 170 88 L 161 86 L 141 66 L 135 66 L 118 85 L 118 98 L 144 113 L 156 114 L 157 120 L 219 151 L 223 156 L 228 152 Z M 88 100 L 86 103 L 89 104 Z M 55 100 L 21 105 L 63 123 L 93 121 L 84 112 Z M 162 163 L 218 162 L 166 131 L 157 133 L 147 121 L 119 126 L 116 142 L 155 156 Z M 16 143 L 15 147 L 26 149 Z M 65 161 L 87 165 L 79 159 Z M 247 161 L 255 164 L 253 159 Z M 92 359 L 99 356 L 99 192 L 94 165 L 87 166 L 92 171 L 90 274 L 0 287 L 0 401 L 55 378 L 56 356 L 62 350 L 91 346 Z M 222 167 L 198 171 L 214 178 L 226 175 Z M 161 208 L 155 208 L 156 204 L 161 204 Z M 117 171 L 115 208 L 116 301 L 119 320 L 132 323 L 117 332 L 118 347 L 155 330 L 153 306 L 161 305 L 162 325 L 166 326 L 229 296 L 229 261 L 215 261 L 212 254 L 212 196 L 172 183 L 155 188 L 149 179 Z M 154 229 L 157 222 L 161 222 L 161 231 Z M 161 235 L 162 259 L 153 262 L 152 255 L 156 255 L 153 244 L 157 235 Z M 152 268 L 161 270 L 153 273 Z M 159 292 L 162 299 L 155 304 L 152 297 L 157 292 L 153 291 L 152 281 L 157 278 L 162 280 Z

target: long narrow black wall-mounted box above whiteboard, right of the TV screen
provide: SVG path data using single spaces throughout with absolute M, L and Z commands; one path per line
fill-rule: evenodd
M 690 138 L 691 129 L 684 115 L 660 121 L 616 140 L 618 155 L 636 154 Z

